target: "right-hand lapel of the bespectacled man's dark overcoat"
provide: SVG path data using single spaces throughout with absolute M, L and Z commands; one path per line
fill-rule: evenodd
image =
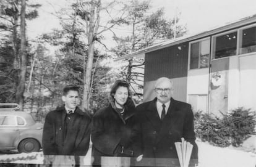
M 171 98 L 171 104 L 168 108 L 168 112 L 166 113 L 166 116 L 164 117 L 164 120 L 161 125 L 161 129 L 159 132 L 159 135 L 156 138 L 156 143 L 160 142 L 161 139 L 166 134 L 171 133 L 170 129 L 173 126 L 173 124 L 177 121 L 179 118 L 179 110 L 176 108 L 176 102 L 173 98 Z

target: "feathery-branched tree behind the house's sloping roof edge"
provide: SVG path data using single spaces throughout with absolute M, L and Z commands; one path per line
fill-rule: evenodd
M 117 47 L 113 49 L 117 56 L 130 54 L 153 44 L 159 43 L 166 39 L 172 39 L 174 36 L 173 26 L 174 19 L 166 20 L 164 9 L 158 9 L 156 12 L 149 12 L 151 9 L 150 1 L 132 0 L 127 2 L 126 23 L 130 27 L 130 35 L 114 36 Z M 176 19 L 176 23 L 179 19 Z M 176 27 L 177 36 L 186 33 L 186 26 L 179 25 Z M 138 102 L 142 100 L 143 88 L 143 68 L 145 61 L 142 58 L 129 58 L 123 60 L 126 63 L 121 71 L 121 75 L 129 83 L 134 91 L 134 96 L 138 97 Z

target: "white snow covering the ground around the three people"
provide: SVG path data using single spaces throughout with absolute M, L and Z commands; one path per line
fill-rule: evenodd
M 207 142 L 197 141 L 198 145 L 198 167 L 255 167 L 256 153 L 237 150 L 233 147 L 215 147 Z M 83 165 L 90 165 L 91 150 L 82 160 Z M 42 164 L 43 153 L 17 153 L 0 155 L 0 163 L 30 163 Z

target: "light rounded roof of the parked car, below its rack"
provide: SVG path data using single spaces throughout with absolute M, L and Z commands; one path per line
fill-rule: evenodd
M 4 110 L 4 111 L 0 111 L 0 115 L 21 116 L 25 118 L 28 125 L 35 124 L 35 120 L 33 120 L 32 115 L 30 115 L 30 113 L 27 113 L 27 112 L 15 111 L 15 110 Z

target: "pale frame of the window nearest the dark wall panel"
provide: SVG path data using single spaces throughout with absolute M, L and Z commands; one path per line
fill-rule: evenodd
M 188 68 L 187 69 L 189 69 L 189 70 L 200 70 L 200 69 L 203 69 L 203 68 L 200 68 L 200 54 L 198 55 L 198 65 L 197 65 L 197 68 L 193 68 L 193 69 L 191 69 L 190 68 L 190 59 L 191 59 L 191 45 L 192 44 L 194 44 L 194 43 L 200 43 L 200 42 L 202 42 L 202 41 L 207 41 L 207 40 L 209 40 L 209 42 L 210 42 L 210 46 L 209 46 L 209 48 L 210 48 L 210 51 L 209 51 L 209 60 L 208 60 L 208 67 L 205 67 L 205 68 L 209 68 L 210 67 L 210 56 L 211 56 L 211 36 L 207 36 L 206 38 L 201 38 L 201 39 L 197 39 L 197 40 L 195 40 L 195 41 L 191 41 L 191 42 L 189 42 L 189 63 L 188 63 Z M 200 52 L 200 49 L 201 49 L 201 44 L 199 44 L 199 52 Z

